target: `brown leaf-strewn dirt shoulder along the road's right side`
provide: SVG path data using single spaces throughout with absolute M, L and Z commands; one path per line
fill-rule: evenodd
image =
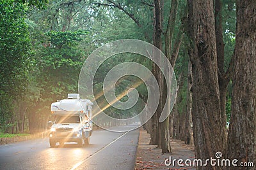
M 164 160 L 170 159 L 182 159 L 192 160 L 195 159 L 193 145 L 185 145 L 183 141 L 172 139 L 172 153 L 161 153 L 161 149 L 157 148 L 156 145 L 148 145 L 150 141 L 150 134 L 147 131 L 140 129 L 140 138 L 137 148 L 137 158 L 135 170 L 145 169 L 195 169 L 195 167 L 186 167 L 185 165 L 178 166 L 175 162 L 175 166 L 166 166 Z M 184 162 L 183 162 L 184 164 Z

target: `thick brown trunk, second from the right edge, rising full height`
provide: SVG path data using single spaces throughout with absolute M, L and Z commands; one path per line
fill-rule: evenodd
M 220 90 L 213 13 L 213 1 L 190 1 L 189 26 L 193 52 L 190 52 L 193 74 L 192 120 L 196 159 L 214 158 L 223 152 L 225 127 L 220 112 Z M 218 169 L 219 167 L 198 167 Z

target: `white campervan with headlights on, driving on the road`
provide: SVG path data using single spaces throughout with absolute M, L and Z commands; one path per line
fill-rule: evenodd
M 49 136 L 50 146 L 55 147 L 56 143 L 63 145 L 65 142 L 88 145 L 93 127 L 92 105 L 90 100 L 80 99 L 79 94 L 68 94 L 68 99 L 52 103 L 54 121 Z

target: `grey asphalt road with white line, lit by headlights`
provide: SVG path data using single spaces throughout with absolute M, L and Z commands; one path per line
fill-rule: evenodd
M 0 145 L 0 169 L 134 169 L 138 135 L 97 130 L 82 148 L 50 148 L 49 138 Z

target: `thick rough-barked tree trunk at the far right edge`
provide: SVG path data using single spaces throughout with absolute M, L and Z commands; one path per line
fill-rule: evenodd
M 227 158 L 256 165 L 256 3 L 237 0 L 235 72 Z M 228 167 L 234 169 L 233 167 Z M 236 167 L 255 169 L 255 167 Z

